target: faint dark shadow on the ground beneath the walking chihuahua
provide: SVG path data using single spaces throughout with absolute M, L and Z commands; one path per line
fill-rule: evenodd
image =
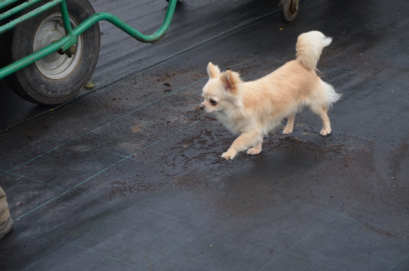
M 224 161 L 235 164 L 224 176 L 224 183 L 243 198 L 254 193 L 274 193 L 274 187 L 313 170 L 329 152 L 335 154 L 332 149 L 295 137 L 266 141 L 258 155 L 242 152 L 234 160 Z

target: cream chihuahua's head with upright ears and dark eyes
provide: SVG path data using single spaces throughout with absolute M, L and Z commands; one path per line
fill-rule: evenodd
M 200 109 L 207 113 L 241 107 L 241 97 L 239 84 L 242 82 L 237 72 L 227 70 L 220 72 L 217 65 L 209 62 L 209 81 L 203 87 L 202 97 L 205 99 L 200 105 Z

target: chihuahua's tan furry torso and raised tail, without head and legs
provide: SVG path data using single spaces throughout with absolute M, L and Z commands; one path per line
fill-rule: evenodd
M 303 33 L 297 41 L 295 60 L 258 80 L 241 84 L 244 108 L 263 123 L 264 132 L 304 107 L 321 114 L 339 99 L 341 95 L 315 72 L 323 48 L 331 41 L 319 31 Z

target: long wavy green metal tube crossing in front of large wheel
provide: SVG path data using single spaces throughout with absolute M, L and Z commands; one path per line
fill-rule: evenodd
M 58 0 L 56 0 L 58 1 Z M 61 2 L 64 0 L 60 0 Z M 155 43 L 156 41 L 160 40 L 168 30 L 173 13 L 175 11 L 177 0 L 169 0 L 168 9 L 166 11 L 165 19 L 161 25 L 161 27 L 151 35 L 144 35 L 141 32 L 133 29 L 126 23 L 124 23 L 121 19 L 116 16 L 113 16 L 109 13 L 101 12 L 96 13 L 87 19 L 84 20 L 81 24 L 79 24 L 76 28 L 72 30 L 72 35 L 65 35 L 60 38 L 55 43 L 46 46 L 37 52 L 34 52 L 26 57 L 21 58 L 20 60 L 15 61 L 14 63 L 0 69 L 0 79 L 6 77 L 7 75 L 12 74 L 13 72 L 18 71 L 24 67 L 27 67 L 30 64 L 33 64 L 38 59 L 47 56 L 53 52 L 56 52 L 58 49 L 62 47 L 69 47 L 76 42 L 76 37 L 81 35 L 85 30 L 87 30 L 93 24 L 99 22 L 100 20 L 106 20 L 109 23 L 119 27 L 121 30 L 129 34 L 130 36 L 134 37 L 135 39 L 142 41 L 143 43 Z

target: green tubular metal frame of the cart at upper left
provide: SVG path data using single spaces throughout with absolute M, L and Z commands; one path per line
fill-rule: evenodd
M 0 10 L 17 2 L 19 0 L 0 0 Z M 25 8 L 28 8 L 36 3 L 38 3 L 41 0 L 29 0 L 13 9 L 10 9 L 2 14 L 0 14 L 0 20 L 6 19 L 10 17 L 11 15 L 16 14 L 17 12 L 20 12 L 21 10 L 24 10 Z M 70 1 L 70 0 L 51 0 L 49 3 L 42 5 L 41 7 L 38 7 L 30 12 L 28 12 L 25 15 L 22 15 L 21 17 L 18 17 L 11 22 L 3 25 L 0 27 L 0 34 L 16 27 L 17 25 L 21 24 L 27 19 L 30 19 L 41 12 L 44 12 L 46 10 L 49 10 L 57 5 L 60 6 L 60 11 L 62 15 L 62 20 L 64 24 L 64 29 L 65 29 L 65 36 L 63 36 L 61 39 L 56 41 L 55 43 L 52 43 L 26 57 L 23 57 L 12 64 L 0 69 L 0 79 L 6 77 L 9 74 L 12 74 L 24 67 L 27 67 L 30 64 L 33 64 L 35 61 L 38 59 L 47 56 L 51 53 L 54 53 L 58 51 L 59 49 L 62 49 L 63 51 L 69 49 L 72 45 L 77 43 L 77 36 L 81 35 L 85 30 L 87 30 L 89 27 L 94 25 L 95 23 L 98 23 L 100 20 L 106 20 L 107 22 L 115 25 L 116 27 L 120 28 L 122 31 L 127 33 L 128 35 L 132 36 L 133 38 L 142 41 L 143 43 L 155 43 L 156 41 L 160 40 L 168 30 L 173 13 L 175 11 L 176 7 L 176 2 L 177 0 L 169 0 L 169 5 L 168 9 L 166 11 L 165 19 L 161 25 L 161 27 L 153 34 L 151 35 L 144 35 L 138 30 L 132 28 L 131 26 L 127 25 L 123 20 L 119 19 L 118 17 L 106 13 L 106 12 L 99 12 L 96 13 L 92 16 L 89 16 L 86 18 L 81 24 L 79 24 L 77 27 L 74 29 L 71 28 L 70 24 L 70 18 L 69 18 L 69 12 L 67 10 L 67 6 L 65 1 Z

